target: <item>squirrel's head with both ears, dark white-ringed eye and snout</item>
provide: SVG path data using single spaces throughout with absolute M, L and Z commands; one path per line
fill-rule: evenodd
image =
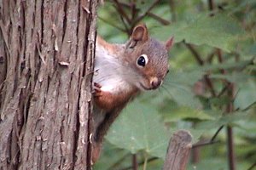
M 159 88 L 169 71 L 168 50 L 173 40 L 171 37 L 165 43 L 159 42 L 148 36 L 145 25 L 136 26 L 125 45 L 125 63 L 133 71 L 129 82 L 141 90 Z

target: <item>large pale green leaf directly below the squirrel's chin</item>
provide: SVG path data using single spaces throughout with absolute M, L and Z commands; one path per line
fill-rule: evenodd
M 148 155 L 163 158 L 170 136 L 154 107 L 136 99 L 113 123 L 107 139 L 131 153 L 144 150 Z

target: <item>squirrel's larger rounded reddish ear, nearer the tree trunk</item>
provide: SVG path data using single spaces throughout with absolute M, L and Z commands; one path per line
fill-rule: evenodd
M 131 34 L 131 39 L 134 41 L 147 41 L 148 40 L 148 29 L 144 24 L 136 26 Z

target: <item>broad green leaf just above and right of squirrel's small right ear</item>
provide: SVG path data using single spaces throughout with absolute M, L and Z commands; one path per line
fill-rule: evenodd
M 171 33 L 176 42 L 184 40 L 195 45 L 207 44 L 229 53 L 236 49 L 234 42 L 239 42 L 239 36 L 244 33 L 238 22 L 227 14 L 217 14 L 213 17 L 201 14 L 190 22 L 180 21 L 172 26 L 160 27 L 154 31 L 161 32 L 158 35 L 162 39 L 166 39 L 170 36 L 166 36 L 166 34 Z

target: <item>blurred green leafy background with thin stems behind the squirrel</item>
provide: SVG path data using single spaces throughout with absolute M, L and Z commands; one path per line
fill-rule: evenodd
M 123 111 L 94 169 L 160 169 L 177 129 L 194 137 L 188 169 L 256 169 L 256 1 L 113 0 L 98 14 L 108 42 L 144 22 L 176 43 L 163 87 Z

